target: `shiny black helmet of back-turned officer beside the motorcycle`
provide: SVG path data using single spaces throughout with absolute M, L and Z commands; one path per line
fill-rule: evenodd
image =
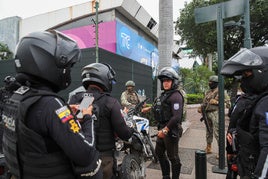
M 92 63 L 82 69 L 82 83 L 86 89 L 90 84 L 97 84 L 110 93 L 115 81 L 115 71 L 108 64 Z

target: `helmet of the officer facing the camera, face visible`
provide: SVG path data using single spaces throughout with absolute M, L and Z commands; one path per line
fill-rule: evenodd
M 164 67 L 159 71 L 158 79 L 162 82 L 164 79 L 171 79 L 171 89 L 176 89 L 179 84 L 179 75 L 172 67 Z M 163 90 L 163 84 L 161 83 L 161 89 Z

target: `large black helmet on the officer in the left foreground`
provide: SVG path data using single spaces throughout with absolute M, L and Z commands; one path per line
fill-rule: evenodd
M 64 34 L 55 30 L 33 32 L 17 45 L 16 71 L 44 80 L 60 91 L 70 85 L 71 67 L 80 56 L 77 43 Z

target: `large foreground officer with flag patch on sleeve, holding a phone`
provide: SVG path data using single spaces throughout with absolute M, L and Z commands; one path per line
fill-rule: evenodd
M 77 43 L 58 31 L 33 32 L 16 49 L 22 85 L 7 101 L 3 151 L 11 178 L 102 178 L 94 147 L 92 106 L 80 123 L 56 93 L 71 83 L 80 59 Z M 79 146 L 79 147 L 78 147 Z

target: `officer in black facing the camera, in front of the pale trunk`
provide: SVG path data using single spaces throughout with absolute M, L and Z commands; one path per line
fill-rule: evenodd
M 158 156 L 163 179 L 178 179 L 181 171 L 179 158 L 179 138 L 182 135 L 183 96 L 178 89 L 179 76 L 171 67 L 160 70 L 158 79 L 163 92 L 153 104 L 155 120 L 158 122 L 158 135 L 155 152 Z M 146 112 L 147 109 L 143 109 Z

